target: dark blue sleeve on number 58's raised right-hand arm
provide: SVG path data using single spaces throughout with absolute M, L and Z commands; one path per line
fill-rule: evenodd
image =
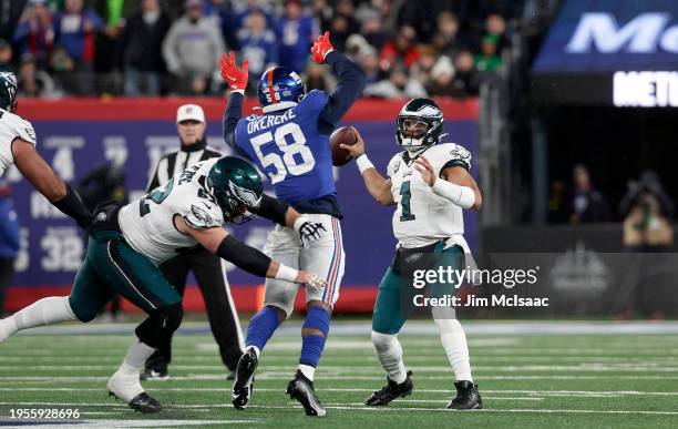
M 343 54 L 337 51 L 330 52 L 326 61 L 332 67 L 339 82 L 318 118 L 318 131 L 322 134 L 332 132 L 341 118 L 353 105 L 356 99 L 360 96 L 366 82 L 362 70 Z

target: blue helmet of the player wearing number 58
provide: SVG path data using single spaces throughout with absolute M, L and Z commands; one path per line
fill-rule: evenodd
M 299 74 L 285 67 L 266 70 L 257 83 L 264 113 L 294 108 L 306 95 L 306 84 Z

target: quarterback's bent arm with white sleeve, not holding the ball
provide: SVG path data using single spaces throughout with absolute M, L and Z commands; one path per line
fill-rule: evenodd
M 414 168 L 421 173 L 424 182 L 433 188 L 433 193 L 448 198 L 462 208 L 480 211 L 483 205 L 483 196 L 477 183 L 464 167 L 446 167 L 440 172 L 440 177 L 436 177 L 433 166 L 425 156 L 421 155 L 414 163 Z

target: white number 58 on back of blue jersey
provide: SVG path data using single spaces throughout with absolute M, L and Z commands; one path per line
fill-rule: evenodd
M 287 142 L 287 136 L 291 136 L 291 143 Z M 254 147 L 257 156 L 259 157 L 259 162 L 261 163 L 261 168 L 266 170 L 268 166 L 274 166 L 276 168 L 275 172 L 267 172 L 266 174 L 270 177 L 270 183 L 276 184 L 278 182 L 282 182 L 287 174 L 291 174 L 292 176 L 298 176 L 304 173 L 308 173 L 314 170 L 316 165 L 316 160 L 314 159 L 314 154 L 310 149 L 306 145 L 306 137 L 304 136 L 304 132 L 294 122 L 289 122 L 279 129 L 276 130 L 275 134 L 270 132 L 266 132 L 264 134 L 259 134 L 255 137 L 250 139 L 251 146 Z M 282 152 L 282 156 L 280 157 L 277 153 L 269 153 L 264 155 L 261 151 L 261 146 L 266 143 L 275 141 L 278 145 L 278 149 Z M 295 155 L 301 156 L 301 163 L 297 163 L 295 160 Z

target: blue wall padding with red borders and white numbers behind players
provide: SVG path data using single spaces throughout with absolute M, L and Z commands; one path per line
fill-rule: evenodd
M 353 125 L 361 132 L 368 153 L 383 173 L 388 161 L 398 152 L 394 140 L 396 116 L 405 100 L 360 100 L 347 113 L 341 125 Z M 65 181 L 78 183 L 93 167 L 116 162 L 124 166 L 126 188 L 133 201 L 144 193 L 156 161 L 178 147 L 176 109 L 185 103 L 204 108 L 210 146 L 229 153 L 222 139 L 222 114 L 225 101 L 219 99 L 68 99 L 58 101 L 22 100 L 19 114 L 32 122 L 38 150 Z M 474 99 L 439 100 L 445 114 L 446 142 L 477 153 L 477 101 Z M 256 113 L 248 100 L 244 113 Z M 472 170 L 472 172 L 477 172 Z M 346 275 L 338 311 L 370 311 L 386 267 L 390 264 L 396 241 L 391 229 L 392 207 L 377 204 L 364 188 L 355 163 L 335 168 L 347 254 Z M 17 261 L 13 287 L 8 292 L 7 308 L 17 310 L 49 295 L 66 295 L 85 252 L 85 234 L 52 207 L 19 172 L 12 167 L 6 178 L 22 225 L 22 251 Z M 269 187 L 269 186 L 268 186 Z M 465 216 L 466 234 L 476 242 L 477 217 Z M 240 226 L 228 226 L 236 237 L 261 248 L 271 225 L 257 219 Z M 228 280 L 236 306 L 254 310 L 260 305 L 261 279 L 233 266 Z M 191 284 L 195 279 L 189 279 Z M 298 296 L 302 303 L 301 294 Z M 202 310 L 204 303 L 196 288 L 186 292 L 187 310 Z M 132 309 L 129 303 L 123 308 Z

